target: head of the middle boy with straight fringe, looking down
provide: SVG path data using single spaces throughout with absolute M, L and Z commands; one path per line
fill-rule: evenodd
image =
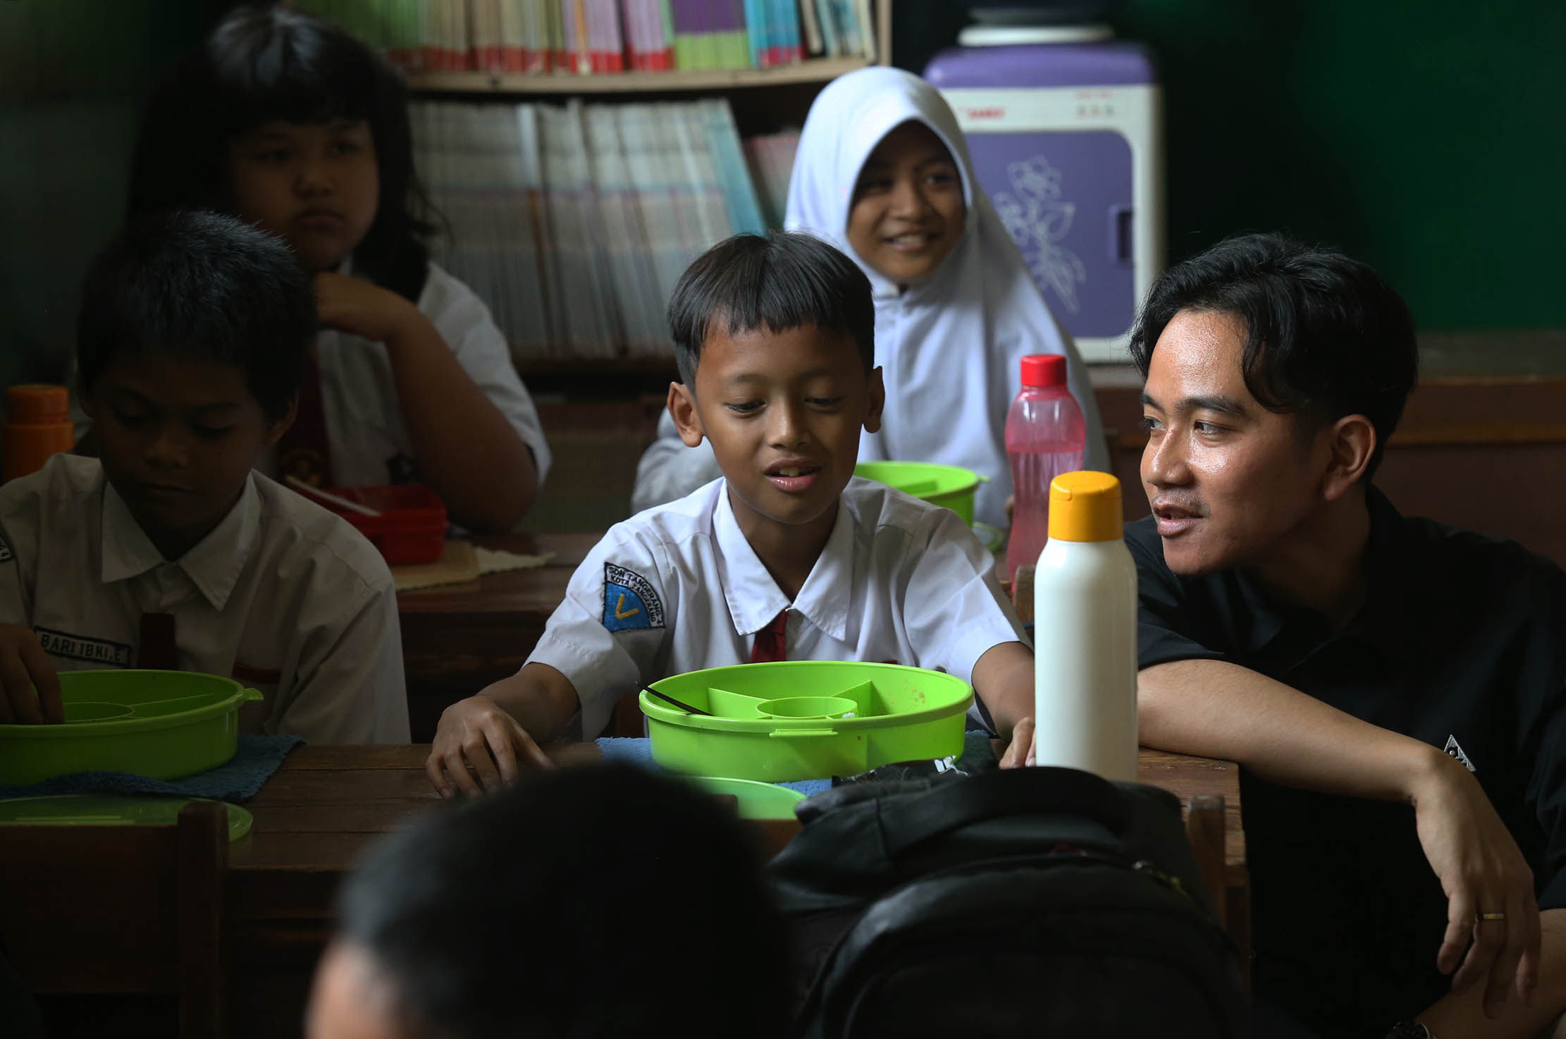
M 669 411 L 687 445 L 711 440 L 741 528 L 830 530 L 885 404 L 864 273 L 811 235 L 736 235 L 680 277 L 669 329 Z

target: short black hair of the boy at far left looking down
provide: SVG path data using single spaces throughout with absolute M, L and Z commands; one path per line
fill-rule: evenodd
M 287 243 L 232 216 L 174 210 L 132 221 L 92 262 L 77 315 L 91 395 L 116 354 L 204 357 L 244 371 L 268 420 L 299 393 L 315 288 Z

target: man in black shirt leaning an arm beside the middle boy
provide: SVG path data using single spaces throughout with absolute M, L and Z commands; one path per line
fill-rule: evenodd
M 1131 349 L 1142 741 L 1242 766 L 1259 1000 L 1320 1036 L 1539 1034 L 1566 1009 L 1566 575 L 1370 484 L 1408 309 L 1248 235 L 1164 274 Z

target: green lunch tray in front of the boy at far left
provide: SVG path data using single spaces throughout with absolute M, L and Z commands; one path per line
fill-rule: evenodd
M 188 671 L 64 671 L 60 697 L 61 726 L 0 726 L 0 785 L 91 771 L 204 773 L 233 757 L 240 705 L 262 694 Z

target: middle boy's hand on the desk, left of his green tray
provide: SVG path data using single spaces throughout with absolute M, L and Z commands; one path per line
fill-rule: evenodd
M 470 796 L 500 790 L 517 779 L 520 768 L 554 768 L 554 762 L 495 701 L 479 693 L 442 711 L 424 760 L 424 773 L 442 798 L 456 790 Z

